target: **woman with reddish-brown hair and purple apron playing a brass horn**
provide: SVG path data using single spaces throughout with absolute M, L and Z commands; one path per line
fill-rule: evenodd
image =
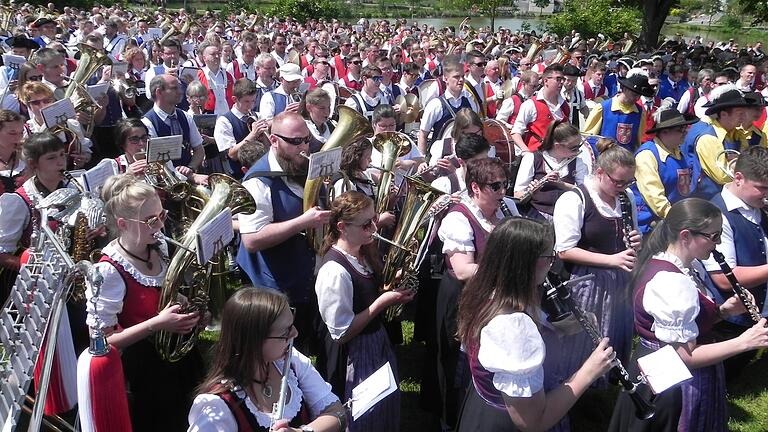
M 373 234 L 378 216 L 373 200 L 357 191 L 345 192 L 331 204 L 324 263 L 315 282 L 325 326 L 325 351 L 318 369 L 342 401 L 352 389 L 389 363 L 399 381 L 397 359 L 381 314 L 390 306 L 413 299 L 412 291 L 383 287 L 382 263 Z M 393 431 L 400 428 L 400 391 L 395 390 L 370 411 L 353 420 L 349 431 Z

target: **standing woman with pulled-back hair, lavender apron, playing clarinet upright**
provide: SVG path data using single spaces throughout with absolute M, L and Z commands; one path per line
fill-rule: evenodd
M 627 190 L 635 180 L 635 158 L 608 143 L 600 149 L 595 173 L 555 203 L 555 251 L 572 277 L 594 275 L 573 286 L 572 295 L 580 308 L 595 314 L 602 335 L 626 362 L 632 351 L 629 272 L 641 241 L 634 196 Z M 563 338 L 564 356 L 555 371 L 560 380 L 584 363 L 591 346 L 584 332 Z

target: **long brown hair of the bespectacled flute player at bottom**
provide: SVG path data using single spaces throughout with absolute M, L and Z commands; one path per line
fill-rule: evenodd
M 199 393 L 221 393 L 235 385 L 247 390 L 255 377 L 267 375 L 262 347 L 272 324 L 289 308 L 288 297 L 266 288 L 241 288 L 224 304 L 221 335 Z

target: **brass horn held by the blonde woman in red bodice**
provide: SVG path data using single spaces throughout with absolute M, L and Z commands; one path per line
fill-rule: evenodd
M 184 308 L 185 313 L 199 312 L 201 317 L 208 306 L 208 288 L 211 268 L 217 261 L 211 260 L 207 265 L 197 264 L 197 231 L 211 219 L 216 217 L 224 208 L 229 207 L 232 214 L 253 213 L 256 210 L 251 194 L 236 180 L 223 174 L 211 174 L 208 184 L 213 188 L 210 198 L 200 211 L 197 218 L 180 239 L 181 247 L 174 253 L 160 291 L 158 312 L 169 303 L 178 303 L 178 296 L 186 296 L 189 304 Z M 217 260 L 223 260 L 225 251 L 220 251 Z M 197 326 L 188 334 L 176 334 L 159 331 L 155 336 L 155 347 L 161 358 L 175 362 L 184 357 L 197 342 L 202 326 Z

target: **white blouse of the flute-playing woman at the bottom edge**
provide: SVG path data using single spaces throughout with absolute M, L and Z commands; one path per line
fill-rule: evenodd
M 283 370 L 283 362 L 284 360 L 281 359 L 273 363 L 278 371 Z M 296 417 L 301 409 L 302 399 L 307 401 L 312 418 L 316 418 L 329 405 L 339 401 L 339 398 L 331 392 L 331 385 L 325 382 L 312 366 L 311 360 L 296 348 L 293 348 L 291 367 L 288 370 L 290 392 L 285 404 L 284 418 Z M 245 399 L 245 406 L 256 417 L 259 425 L 268 428 L 272 423 L 272 413 L 259 410 L 245 391 L 240 390 L 237 394 Z M 227 403 L 214 394 L 198 395 L 192 402 L 187 418 L 188 432 L 231 432 L 238 429 L 237 420 Z

